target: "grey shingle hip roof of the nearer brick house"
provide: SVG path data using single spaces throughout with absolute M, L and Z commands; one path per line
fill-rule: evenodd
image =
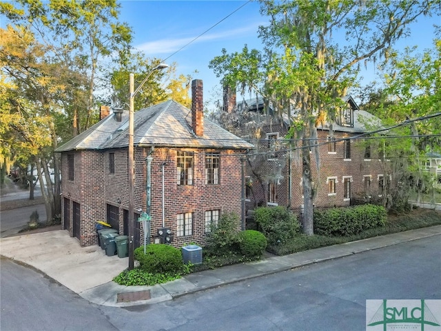
M 134 145 L 232 150 L 254 148 L 205 118 L 204 135 L 196 137 L 191 123 L 191 110 L 173 100 L 144 108 L 134 113 Z M 56 152 L 125 148 L 128 146 L 128 127 L 128 112 L 123 112 L 121 122 L 110 114 L 57 148 Z

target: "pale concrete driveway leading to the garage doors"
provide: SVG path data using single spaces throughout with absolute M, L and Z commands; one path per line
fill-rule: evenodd
M 127 257 L 107 257 L 98 245 L 82 248 L 66 230 L 3 238 L 0 254 L 32 265 L 79 294 L 112 281 L 128 267 Z

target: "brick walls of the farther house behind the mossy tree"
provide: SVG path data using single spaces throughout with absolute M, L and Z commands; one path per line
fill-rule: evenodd
M 275 131 L 280 130 L 280 131 Z M 279 127 L 267 128 L 266 132 L 279 132 L 279 137 L 284 137 L 286 130 Z M 351 178 L 351 197 L 358 197 L 364 194 L 365 190 L 365 176 L 371 176 L 371 192 L 378 194 L 378 175 L 384 174 L 384 160 L 378 157 L 378 148 L 375 146 L 375 140 L 371 141 L 371 159 L 365 159 L 365 142 L 358 139 L 351 141 L 351 159 L 344 159 L 344 142 L 339 139 L 351 137 L 353 134 L 345 132 L 334 132 L 336 137 L 335 152 L 328 152 L 327 137 L 329 132 L 327 130 L 320 130 L 318 132 L 318 143 L 320 146 L 320 170 L 317 170 L 316 159 L 314 152 L 311 153 L 311 172 L 316 185 L 316 206 L 343 206 L 349 205 L 349 201 L 344 199 L 345 186 L 344 177 Z M 266 138 L 266 137 L 265 137 Z M 263 148 L 267 146 L 266 139 L 258 142 L 260 152 L 269 152 L 269 149 Z M 276 186 L 277 202 L 279 205 L 289 204 L 289 152 L 287 146 L 280 146 L 276 152 L 269 152 L 268 159 L 285 160 L 285 165 L 282 171 L 283 179 L 280 180 Z M 271 167 L 268 164 L 263 164 L 266 170 L 271 172 Z M 386 165 L 387 166 L 387 165 Z M 247 168 L 247 176 L 250 176 L 253 181 L 252 190 L 254 197 L 247 202 L 247 209 L 253 209 L 254 205 L 261 205 L 262 201 L 267 201 L 267 181 L 263 179 L 263 183 L 252 174 Z M 337 177 L 336 194 L 329 194 L 329 187 L 327 178 Z M 291 152 L 291 207 L 298 208 L 303 203 L 302 198 L 302 153 L 301 150 L 294 150 Z M 263 185 L 262 185 L 263 184 Z

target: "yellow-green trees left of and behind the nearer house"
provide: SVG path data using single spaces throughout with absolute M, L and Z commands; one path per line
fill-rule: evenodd
M 37 168 L 48 220 L 61 212 L 54 150 L 96 123 L 99 106 L 127 107 L 129 73 L 141 81 L 160 62 L 134 50 L 119 8 L 116 0 L 0 1 L 7 18 L 0 28 L 0 164 Z M 136 109 L 171 95 L 185 101 L 188 77 L 172 76 L 175 66 L 152 73 Z

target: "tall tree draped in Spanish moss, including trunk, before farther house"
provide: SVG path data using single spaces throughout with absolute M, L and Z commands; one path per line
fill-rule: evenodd
M 317 118 L 333 121 L 341 98 L 356 86 L 361 66 L 389 59 L 396 41 L 410 34 L 409 24 L 438 14 L 440 8 L 433 0 L 260 3 L 262 14 L 269 17 L 269 24 L 259 29 L 264 51 L 223 50 L 210 66 L 229 86 L 258 90 L 278 105 L 276 112 L 289 117 L 289 138 L 301 141 L 293 147 L 302 150 L 303 229 L 313 234 L 309 148 L 314 149 Z

